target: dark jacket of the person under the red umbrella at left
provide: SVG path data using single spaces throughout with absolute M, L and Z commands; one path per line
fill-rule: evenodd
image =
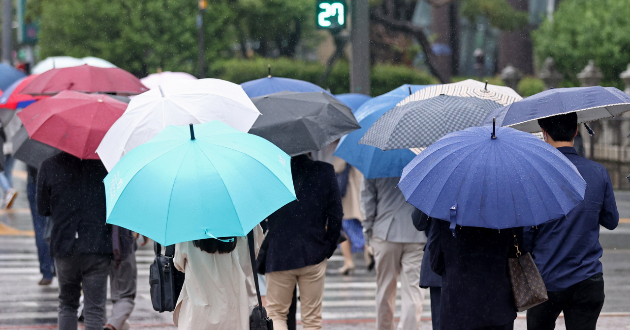
M 52 219 L 50 255 L 112 253 L 112 226 L 105 224 L 107 170 L 100 160 L 59 153 L 37 175 L 37 211 Z

